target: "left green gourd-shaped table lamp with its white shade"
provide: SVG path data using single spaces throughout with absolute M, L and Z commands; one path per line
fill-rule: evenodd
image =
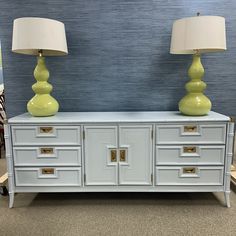
M 32 116 L 52 116 L 59 104 L 50 95 L 52 85 L 47 82 L 49 71 L 44 56 L 67 55 L 64 24 L 60 21 L 23 17 L 14 20 L 12 51 L 26 55 L 37 55 L 34 77 L 37 80 L 32 89 L 35 96 L 28 102 L 27 110 Z

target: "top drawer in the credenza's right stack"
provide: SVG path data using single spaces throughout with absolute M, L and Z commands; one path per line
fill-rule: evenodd
M 225 144 L 225 124 L 156 126 L 156 144 Z

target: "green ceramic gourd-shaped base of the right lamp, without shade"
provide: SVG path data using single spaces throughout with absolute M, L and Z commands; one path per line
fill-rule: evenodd
M 193 55 L 193 62 L 188 70 L 191 80 L 185 85 L 187 95 L 179 102 L 179 110 L 184 115 L 203 116 L 211 110 L 211 101 L 203 94 L 206 88 L 201 78 L 204 75 L 204 68 L 199 54 Z

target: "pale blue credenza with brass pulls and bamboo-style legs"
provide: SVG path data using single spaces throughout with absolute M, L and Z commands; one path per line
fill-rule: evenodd
M 10 204 L 19 192 L 224 192 L 234 123 L 179 112 L 22 114 L 5 124 Z

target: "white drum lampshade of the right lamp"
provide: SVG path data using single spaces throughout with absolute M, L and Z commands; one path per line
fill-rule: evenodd
M 195 16 L 176 20 L 172 28 L 170 53 L 195 54 L 226 50 L 225 18 Z

